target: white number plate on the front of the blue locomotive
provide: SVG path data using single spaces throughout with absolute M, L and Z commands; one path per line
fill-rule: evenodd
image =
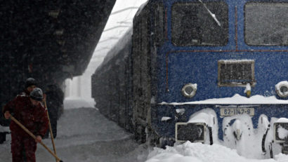
M 220 108 L 221 116 L 233 116 L 240 114 L 248 114 L 254 116 L 254 108 Z

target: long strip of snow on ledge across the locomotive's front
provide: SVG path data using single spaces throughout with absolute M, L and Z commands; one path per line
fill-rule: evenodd
M 288 100 L 278 100 L 275 96 L 265 97 L 253 95 L 249 98 L 235 94 L 233 97 L 213 98 L 192 102 L 161 102 L 159 104 L 183 105 L 183 104 L 288 104 Z

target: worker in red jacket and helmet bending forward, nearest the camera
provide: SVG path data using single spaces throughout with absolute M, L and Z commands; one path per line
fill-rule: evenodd
M 18 95 L 14 100 L 8 102 L 4 107 L 6 119 L 11 114 L 22 123 L 35 136 L 34 140 L 14 121 L 10 123 L 11 130 L 11 152 L 13 162 L 35 162 L 35 151 L 37 142 L 41 142 L 48 129 L 47 110 L 41 104 L 43 93 L 40 88 L 34 88 L 30 95 Z M 22 154 L 25 152 L 25 155 Z

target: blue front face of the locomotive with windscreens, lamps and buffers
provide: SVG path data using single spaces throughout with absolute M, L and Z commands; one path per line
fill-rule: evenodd
M 288 1 L 166 1 L 162 8 L 151 88 L 152 129 L 162 142 L 218 143 L 240 154 L 258 147 L 268 157 L 281 144 L 287 153 Z

